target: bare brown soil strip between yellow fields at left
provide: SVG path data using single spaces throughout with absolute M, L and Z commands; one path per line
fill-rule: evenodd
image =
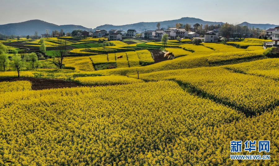
M 66 81 L 63 79 L 39 79 L 39 78 L 32 78 L 32 77 L 20 77 L 20 78 L 1 77 L 0 82 L 2 81 L 30 81 L 32 83 L 32 90 L 80 86 L 78 83 L 74 81 Z

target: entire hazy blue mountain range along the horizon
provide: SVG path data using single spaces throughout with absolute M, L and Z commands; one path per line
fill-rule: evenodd
M 45 34 L 46 30 L 48 30 L 49 33 L 51 33 L 54 30 L 60 31 L 60 29 L 63 29 L 64 32 L 72 32 L 73 30 L 81 29 L 81 30 L 88 30 L 88 31 L 95 31 L 96 29 L 104 29 L 104 30 L 110 30 L 110 29 L 117 29 L 117 30 L 123 30 L 127 31 L 128 29 L 135 29 L 136 31 L 139 30 L 155 30 L 157 23 L 161 24 L 161 28 L 168 28 L 168 27 L 175 27 L 176 23 L 182 23 L 182 24 L 190 24 L 192 27 L 195 23 L 199 24 L 224 24 L 223 22 L 212 22 L 212 21 L 204 21 L 202 19 L 192 18 L 192 17 L 183 17 L 181 19 L 174 19 L 174 20 L 168 20 L 168 21 L 159 21 L 159 22 L 140 22 L 140 23 L 133 23 L 133 24 L 126 24 L 126 25 L 110 25 L 105 24 L 98 26 L 94 29 L 86 28 L 81 25 L 56 25 L 53 23 L 47 23 L 42 20 L 29 20 L 24 21 L 21 23 L 9 23 L 0 25 L 0 33 L 4 35 L 33 35 L 36 31 L 39 35 Z M 268 28 L 274 28 L 279 25 L 274 24 L 252 24 L 243 22 L 239 25 L 242 26 L 248 26 L 248 27 L 254 27 L 254 28 L 260 28 L 260 29 L 268 29 Z

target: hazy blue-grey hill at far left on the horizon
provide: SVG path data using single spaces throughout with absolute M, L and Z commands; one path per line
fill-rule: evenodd
M 65 33 L 72 32 L 75 29 L 92 30 L 81 25 L 55 25 L 38 19 L 0 25 L 0 33 L 3 35 L 34 35 L 35 31 L 38 32 L 38 35 L 41 35 L 45 34 L 46 30 L 51 34 L 55 30 L 60 32 L 60 29 L 63 29 Z

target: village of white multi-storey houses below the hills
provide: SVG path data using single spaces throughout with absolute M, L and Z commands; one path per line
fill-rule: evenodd
M 185 28 L 167 28 L 164 30 L 164 28 L 160 29 L 160 25 L 157 26 L 158 29 L 156 30 L 146 30 L 143 32 L 137 33 L 135 29 L 129 29 L 127 32 L 122 30 L 116 30 L 111 29 L 109 31 L 107 30 L 96 30 L 95 32 L 91 31 L 81 31 L 77 32 L 76 36 L 83 36 L 83 37 L 93 37 L 93 38 L 101 38 L 106 37 L 108 41 L 113 40 L 119 40 L 122 41 L 122 39 L 127 38 L 135 38 L 135 39 L 145 39 L 145 40 L 155 40 L 155 41 L 161 41 L 162 36 L 164 34 L 168 35 L 169 40 L 182 40 L 182 39 L 190 39 L 193 40 L 194 38 L 201 40 L 201 42 L 220 42 L 222 40 L 227 41 L 239 41 L 241 38 L 250 38 L 255 37 L 252 32 L 241 34 L 238 32 L 230 33 L 230 36 L 235 37 L 228 37 L 225 38 L 224 34 L 219 33 L 219 28 L 214 28 L 212 30 L 205 30 L 204 34 L 201 34 L 201 30 L 198 28 L 189 28 L 186 30 Z M 262 33 L 263 39 L 269 39 L 272 40 L 272 42 L 264 42 L 263 49 L 266 49 L 268 47 L 279 47 L 279 27 L 269 28 L 267 30 L 259 30 Z M 46 34 L 42 34 L 41 37 L 47 37 Z M 56 36 L 55 36 L 56 37 Z M 258 36 L 257 36 L 258 37 Z

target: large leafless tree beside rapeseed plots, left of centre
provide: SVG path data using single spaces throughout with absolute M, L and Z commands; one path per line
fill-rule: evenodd
M 57 41 L 59 44 L 57 45 L 57 48 L 55 50 L 55 59 L 57 60 L 60 69 L 62 69 L 63 59 L 68 55 L 69 51 L 67 50 L 66 40 L 58 39 Z

